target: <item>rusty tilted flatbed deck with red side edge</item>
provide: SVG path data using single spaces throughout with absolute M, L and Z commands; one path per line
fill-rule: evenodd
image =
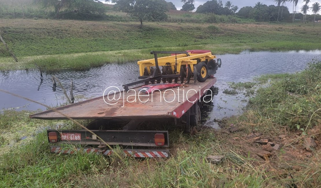
M 33 114 L 30 115 L 30 118 L 68 119 L 64 115 L 73 119 L 180 118 L 195 103 L 194 101 L 199 100 L 201 96 L 206 94 L 206 91 L 215 82 L 216 78 L 208 78 L 205 82 L 196 82 L 196 84 L 191 81 L 188 87 L 171 88 L 172 91 L 155 91 L 149 96 L 142 92 L 139 93 L 139 88 L 134 88 L 135 91 L 131 90 L 128 93 L 121 91 L 104 97 L 92 98 Z M 119 98 L 119 100 L 108 100 L 108 98 L 112 99 L 113 97 Z M 109 104 L 104 101 L 104 98 Z M 135 98 L 136 102 L 134 101 Z M 56 111 L 60 111 L 64 115 Z

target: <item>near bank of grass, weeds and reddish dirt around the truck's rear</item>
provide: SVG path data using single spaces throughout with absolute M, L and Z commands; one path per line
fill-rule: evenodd
M 169 159 L 54 155 L 44 133 L 0 156 L 1 187 L 317 187 L 321 183 L 321 62 L 294 74 L 265 75 L 244 114 L 221 130 L 170 131 Z M 251 92 L 252 93 L 252 92 Z M 1 119 L 0 119 L 1 120 Z M 316 147 L 304 148 L 312 138 Z M 267 139 L 261 145 L 255 141 Z M 264 153 L 264 155 L 262 155 Z M 219 164 L 206 161 L 222 155 Z

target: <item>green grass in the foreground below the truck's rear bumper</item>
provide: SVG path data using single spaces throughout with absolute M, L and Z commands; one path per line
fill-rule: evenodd
M 40 133 L 28 145 L 0 156 L 1 187 L 209 187 L 225 184 L 262 186 L 266 180 L 264 172 L 255 170 L 248 159 L 231 152 L 223 153 L 223 166 L 244 166 L 244 172 L 220 172 L 220 166 L 205 160 L 208 154 L 222 154 L 218 149 L 220 141 L 213 132 L 202 132 L 201 137 L 189 137 L 172 132 L 173 144 L 192 144 L 178 149 L 168 160 L 138 160 L 124 158 L 119 162 L 116 156 L 105 158 L 100 155 L 77 153 L 56 155 L 48 150 L 45 133 Z M 249 159 L 251 160 L 251 159 Z M 142 165 L 144 167 L 142 168 Z M 218 170 L 220 169 L 220 170 Z M 143 171 L 143 172 L 142 172 Z M 142 173 L 140 173 L 142 172 Z M 139 173 L 139 174 L 137 174 Z M 218 181 L 220 179 L 220 181 Z

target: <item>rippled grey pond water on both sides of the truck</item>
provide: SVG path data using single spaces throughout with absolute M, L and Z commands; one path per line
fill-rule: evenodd
M 312 59 L 321 60 L 321 50 L 288 51 L 288 52 L 250 52 L 240 54 L 219 55 L 222 66 L 218 69 L 218 94 L 213 98 L 213 110 L 209 112 L 209 120 L 221 119 L 225 116 L 241 113 L 246 101 L 241 97 L 222 93 L 228 88 L 228 82 L 251 81 L 254 76 L 272 73 L 294 73 L 303 70 Z M 51 77 L 44 73 L 40 77 L 38 70 L 2 71 L 0 72 L 0 88 L 30 98 L 47 106 L 55 107 L 64 102 L 64 94 L 57 85 L 53 90 Z M 54 74 L 65 86 L 69 94 L 70 82 L 74 82 L 76 101 L 101 96 L 109 86 L 121 88 L 124 83 L 137 80 L 139 69 L 136 62 L 123 64 L 106 64 L 87 71 L 61 71 Z M 45 110 L 39 104 L 0 92 L 0 109 Z

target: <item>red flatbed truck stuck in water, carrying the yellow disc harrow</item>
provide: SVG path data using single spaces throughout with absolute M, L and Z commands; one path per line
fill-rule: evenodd
M 72 154 L 83 150 L 87 153 L 111 155 L 113 150 L 105 144 L 107 143 L 112 147 L 121 146 L 124 155 L 127 156 L 168 158 L 170 156 L 168 131 L 155 130 L 151 124 L 148 128 L 140 129 L 139 125 L 146 120 L 174 120 L 172 122 L 175 125 L 184 122 L 184 131 L 190 132 L 191 127 L 197 126 L 201 119 L 201 102 L 212 100 L 209 92 L 216 83 L 214 73 L 217 67 L 221 66 L 221 59 L 215 62 L 216 57 L 204 50 L 152 51 L 151 54 L 154 54 L 154 59 L 138 62 L 141 73 L 139 78 L 142 80 L 124 84 L 121 89 L 116 87 L 109 88 L 109 91 L 106 89 L 101 97 L 30 115 L 30 118 L 45 120 L 69 118 L 94 120 L 87 126 L 90 132 L 86 129 L 47 130 L 48 142 L 51 144 L 50 151 Z M 157 57 L 157 54 L 171 54 L 171 56 Z M 181 84 L 178 84 L 179 78 Z M 194 79 L 194 83 L 189 83 L 190 79 Z M 172 81 L 175 83 L 171 83 Z M 137 86 L 140 83 L 145 85 Z M 176 85 L 171 87 L 171 84 Z M 134 87 L 129 89 L 130 86 Z M 148 92 L 144 88 L 146 86 L 151 88 L 157 86 L 158 89 Z M 162 86 L 166 90 L 159 89 Z M 208 96 L 211 96 L 210 100 L 206 101 Z M 120 125 L 117 129 L 103 126 L 115 122 Z M 65 144 L 72 144 L 74 147 L 65 147 Z

